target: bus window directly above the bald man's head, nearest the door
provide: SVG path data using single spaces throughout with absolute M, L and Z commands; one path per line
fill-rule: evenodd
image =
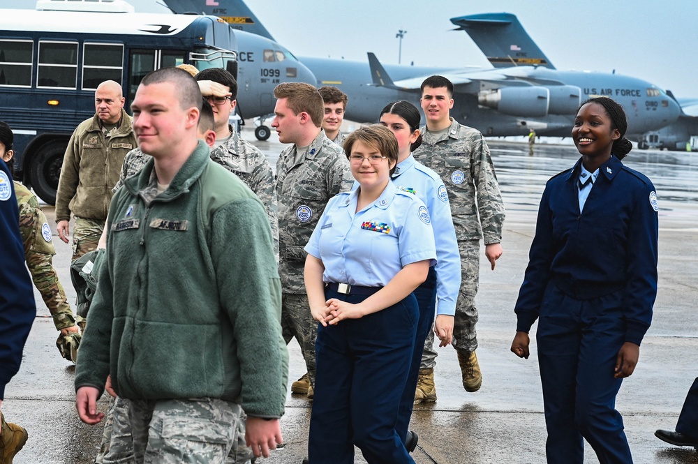
M 96 90 L 105 80 L 121 82 L 124 45 L 85 43 L 82 58 L 82 89 Z

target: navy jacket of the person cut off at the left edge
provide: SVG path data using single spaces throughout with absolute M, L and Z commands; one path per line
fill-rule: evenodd
M 24 265 L 24 246 L 20 235 L 12 176 L 0 159 L 0 400 L 5 385 L 20 370 L 22 350 L 31 323 L 36 316 L 34 290 Z

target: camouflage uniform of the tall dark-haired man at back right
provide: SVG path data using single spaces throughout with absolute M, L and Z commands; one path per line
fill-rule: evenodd
M 485 245 L 502 240 L 504 204 L 497 176 L 482 134 L 452 119 L 436 138 L 422 128 L 423 142 L 415 159 L 438 172 L 448 190 L 453 225 L 461 253 L 461 288 L 456 300 L 453 346 L 470 353 L 477 348 L 475 294 L 480 279 L 480 239 Z M 478 218 L 479 215 L 479 218 Z M 433 335 L 430 336 L 433 342 Z M 424 345 L 422 369 L 433 368 L 436 352 Z

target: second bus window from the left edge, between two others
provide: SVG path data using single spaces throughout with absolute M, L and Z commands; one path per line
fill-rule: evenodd
M 77 42 L 39 41 L 36 87 L 77 87 Z

